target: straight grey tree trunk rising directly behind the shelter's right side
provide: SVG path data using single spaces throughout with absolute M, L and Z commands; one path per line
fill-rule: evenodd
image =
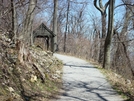
M 58 51 L 58 43 L 57 43 L 57 12 L 58 12 L 58 0 L 54 0 L 53 32 L 56 35 L 55 38 L 54 38 L 54 52 Z

